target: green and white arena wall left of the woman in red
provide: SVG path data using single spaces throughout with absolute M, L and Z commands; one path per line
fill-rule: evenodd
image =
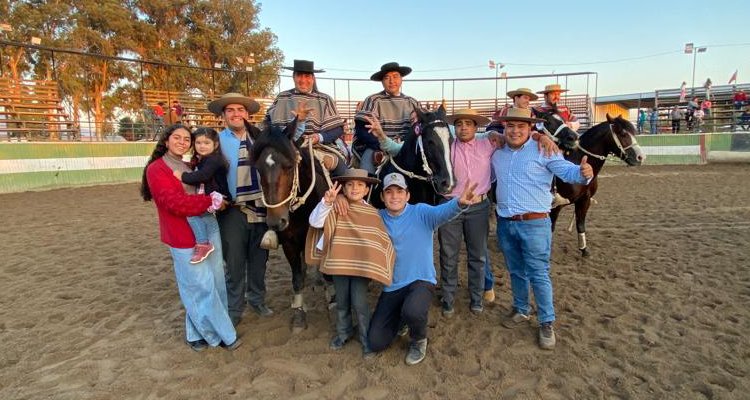
M 0 143 L 0 193 L 134 182 L 154 143 Z

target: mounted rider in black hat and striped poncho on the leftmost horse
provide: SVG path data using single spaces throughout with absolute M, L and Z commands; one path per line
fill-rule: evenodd
M 321 93 L 315 84 L 315 74 L 325 72 L 315 69 L 314 63 L 307 60 L 294 60 L 294 66 L 284 67 L 292 71 L 294 89 L 279 93 L 266 113 L 266 123 L 286 125 L 291 122 L 300 104 L 307 108 L 306 121 L 298 124 L 298 134 L 303 134 L 313 144 L 337 146 L 336 142 L 344 134 L 344 119 L 336 110 L 331 96 Z M 331 156 L 327 163 L 333 175 L 346 171 L 346 161 Z

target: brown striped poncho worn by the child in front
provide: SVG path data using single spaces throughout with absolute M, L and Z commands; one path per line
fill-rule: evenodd
M 322 251 L 316 248 L 321 236 Z M 331 212 L 323 229 L 310 228 L 307 232 L 305 262 L 320 265 L 324 274 L 360 276 L 388 286 L 395 261 L 383 219 L 366 203 L 350 204 L 345 216 Z

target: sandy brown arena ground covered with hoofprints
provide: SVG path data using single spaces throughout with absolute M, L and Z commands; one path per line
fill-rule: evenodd
M 136 184 L 0 195 L 0 399 L 747 399 L 748 199 L 750 164 L 605 168 L 590 259 L 565 231 L 570 209 L 554 237 L 557 349 L 539 350 L 533 325 L 500 326 L 510 293 L 493 233 L 498 300 L 475 317 L 463 286 L 451 319 L 436 303 L 427 358 L 408 367 L 404 340 L 374 360 L 356 341 L 330 351 L 312 284 L 310 326 L 291 335 L 281 251 L 275 315 L 246 314 L 236 352 L 194 353 Z

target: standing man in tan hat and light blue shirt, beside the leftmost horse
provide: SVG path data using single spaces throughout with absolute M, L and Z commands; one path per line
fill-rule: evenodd
M 222 117 L 226 127 L 219 133 L 219 143 L 228 162 L 227 188 L 233 203 L 218 214 L 218 220 L 226 261 L 229 316 L 237 325 L 245 310 L 246 290 L 247 302 L 258 315 L 273 314 L 265 303 L 268 250 L 260 247 L 268 230 L 266 209 L 258 171 L 249 162 L 260 130 L 247 120 L 260 110 L 260 105 L 239 93 L 227 93 L 208 103 L 208 110 Z

